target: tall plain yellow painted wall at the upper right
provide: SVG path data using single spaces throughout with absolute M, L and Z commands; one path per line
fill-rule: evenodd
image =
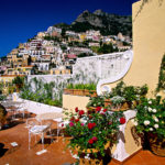
M 141 1 L 133 4 L 134 58 L 124 81 L 131 85 L 147 84 L 156 88 L 162 57 L 165 53 L 165 1 L 151 0 L 135 18 Z

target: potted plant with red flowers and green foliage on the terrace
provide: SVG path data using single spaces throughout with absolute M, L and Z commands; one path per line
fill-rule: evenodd
M 117 143 L 119 125 L 123 124 L 124 118 L 121 112 L 109 112 L 107 109 L 99 109 L 96 113 L 86 113 L 84 110 L 75 109 L 76 113 L 66 113 L 69 123 L 65 128 L 65 133 L 70 136 L 68 147 L 78 156 L 102 158 L 106 151 Z M 125 120 L 124 120 L 125 122 Z

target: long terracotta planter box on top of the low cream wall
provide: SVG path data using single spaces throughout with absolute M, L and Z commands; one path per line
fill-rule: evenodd
M 75 96 L 90 96 L 97 97 L 96 90 L 87 90 L 87 89 L 64 89 L 65 95 L 75 95 Z

